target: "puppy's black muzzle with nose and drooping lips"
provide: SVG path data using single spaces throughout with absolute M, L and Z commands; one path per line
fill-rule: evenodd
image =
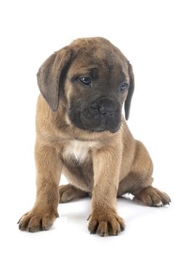
M 68 110 L 73 126 L 91 132 L 109 131 L 115 133 L 121 126 L 122 108 L 119 102 L 100 97 L 89 104 L 84 101 L 79 107 L 74 103 Z

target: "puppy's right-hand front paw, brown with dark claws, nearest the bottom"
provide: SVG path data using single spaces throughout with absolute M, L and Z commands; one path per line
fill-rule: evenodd
M 89 215 L 88 229 L 90 234 L 98 233 L 100 236 L 117 236 L 124 230 L 124 220 L 111 209 L 100 212 L 93 211 Z

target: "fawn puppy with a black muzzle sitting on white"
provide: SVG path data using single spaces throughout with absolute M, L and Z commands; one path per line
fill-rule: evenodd
M 148 206 L 170 203 L 151 186 L 151 158 L 127 127 L 134 75 L 118 48 L 102 37 L 76 39 L 49 56 L 37 78 L 36 203 L 20 230 L 48 230 L 59 202 L 92 195 L 89 232 L 118 235 L 124 221 L 116 197 L 130 192 Z M 69 184 L 59 187 L 61 173 Z

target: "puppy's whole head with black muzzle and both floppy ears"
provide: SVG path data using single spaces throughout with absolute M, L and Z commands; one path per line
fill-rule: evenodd
M 61 104 L 79 129 L 116 132 L 122 105 L 129 118 L 134 91 L 130 62 L 102 37 L 77 39 L 41 65 L 39 89 L 52 111 Z

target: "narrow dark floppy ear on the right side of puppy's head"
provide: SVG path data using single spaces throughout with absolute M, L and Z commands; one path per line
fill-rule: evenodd
M 129 76 L 130 76 L 130 87 L 128 89 L 127 98 L 124 102 L 124 113 L 125 113 L 126 120 L 128 120 L 130 116 L 130 103 L 132 99 L 132 94 L 135 89 L 135 78 L 132 70 L 132 65 L 130 63 L 128 64 L 128 68 L 129 68 Z

